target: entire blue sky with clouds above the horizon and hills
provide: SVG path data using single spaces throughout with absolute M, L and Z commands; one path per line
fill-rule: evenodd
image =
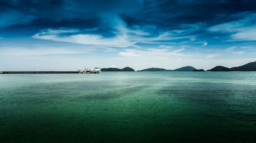
M 0 71 L 256 61 L 256 1 L 0 0 Z

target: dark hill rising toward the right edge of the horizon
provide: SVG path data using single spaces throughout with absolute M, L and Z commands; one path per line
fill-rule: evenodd
M 251 62 L 239 67 L 227 68 L 223 66 L 217 66 L 207 71 L 256 71 L 256 62 Z

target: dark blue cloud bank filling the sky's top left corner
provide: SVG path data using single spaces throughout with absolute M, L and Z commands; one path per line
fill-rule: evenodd
M 85 22 L 95 19 L 104 13 L 134 13 L 143 6 L 143 1 L 0 1 L 1 17 L 5 22 L 2 26 L 15 24 L 35 24 L 59 21 Z M 7 17 L 13 17 L 8 20 Z M 19 19 L 22 18 L 22 19 Z

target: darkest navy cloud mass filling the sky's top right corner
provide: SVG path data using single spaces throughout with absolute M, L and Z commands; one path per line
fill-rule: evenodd
M 255 10 L 255 1 L 144 1 L 141 12 L 123 18 L 131 24 L 154 23 L 170 28 L 181 23 L 222 23 L 234 20 L 232 14 Z

